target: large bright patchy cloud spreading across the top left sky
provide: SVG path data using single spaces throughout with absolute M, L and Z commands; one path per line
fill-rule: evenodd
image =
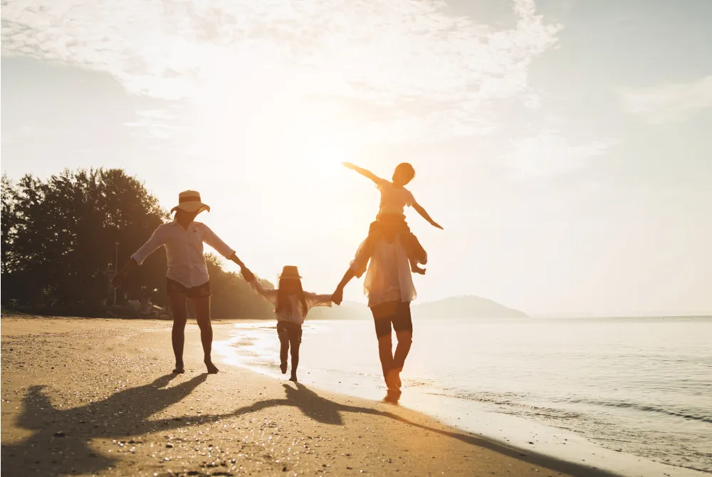
M 320 103 L 389 134 L 471 134 L 491 130 L 495 102 L 537 103 L 528 67 L 561 27 L 533 0 L 511 14 L 513 27 L 495 28 L 440 0 L 13 1 L 2 48 L 152 98 L 246 112 Z

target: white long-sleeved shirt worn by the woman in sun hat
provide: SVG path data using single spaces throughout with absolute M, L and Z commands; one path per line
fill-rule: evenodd
M 168 261 L 167 278 L 182 283 L 187 288 L 193 288 L 206 283 L 210 278 L 203 256 L 203 242 L 225 258 L 231 258 L 235 253 L 205 224 L 194 221 L 184 229 L 174 220 L 159 226 L 131 258 L 140 265 L 159 246 L 164 246 Z

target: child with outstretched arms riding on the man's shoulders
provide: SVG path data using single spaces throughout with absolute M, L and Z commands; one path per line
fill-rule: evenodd
M 355 166 L 350 162 L 344 162 L 344 165 L 371 179 L 376 183 L 376 187 L 381 192 L 381 205 L 379 206 L 378 215 L 368 230 L 368 239 L 366 242 L 368 251 L 366 253 L 370 254 L 372 252 L 375 243 L 384 233 L 384 229 L 388 228 L 389 231 L 396 231 L 396 233 L 399 234 L 400 241 L 408 254 L 411 271 L 424 274 L 425 268 L 421 268 L 419 264 L 425 265 L 428 263 L 428 254 L 418 241 L 418 238 L 410 231 L 405 221 L 405 206 L 412 206 L 413 209 L 423 216 L 426 221 L 429 221 L 432 226 L 438 229 L 442 229 L 442 227 L 431 219 L 425 209 L 415 201 L 413 194 L 405 188 L 406 184 L 411 182 L 415 177 L 415 169 L 413 169 L 413 166 L 407 162 L 398 164 L 393 172 L 391 182 L 378 177 L 367 169 Z M 365 267 L 366 264 L 364 263 L 363 266 Z

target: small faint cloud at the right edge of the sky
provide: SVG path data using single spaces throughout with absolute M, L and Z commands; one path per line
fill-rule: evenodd
M 686 120 L 699 110 L 712 108 L 712 75 L 692 83 L 676 83 L 627 90 L 624 108 L 649 124 Z

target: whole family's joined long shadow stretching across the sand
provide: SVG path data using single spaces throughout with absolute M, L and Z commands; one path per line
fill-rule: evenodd
M 187 397 L 207 374 L 201 374 L 173 387 L 166 387 L 175 374 L 159 377 L 150 384 L 125 389 L 102 401 L 92 402 L 73 409 L 56 409 L 43 392 L 43 386 L 33 386 L 23 398 L 23 410 L 17 426 L 33 431 L 26 440 L 17 444 L 2 445 L 2 471 L 8 475 L 68 475 L 96 473 L 117 463 L 114 458 L 95 454 L 89 447 L 91 439 L 138 438 L 144 434 L 194 426 L 241 416 L 270 407 L 293 407 L 323 424 L 344 425 L 342 413 L 363 413 L 400 421 L 414 428 L 435 432 L 451 439 L 511 456 L 553 471 L 574 476 L 612 476 L 611 473 L 575 463 L 559 461 L 547 456 L 524 454 L 487 439 L 456 431 L 434 429 L 417 424 L 392 412 L 370 407 L 348 406 L 325 399 L 303 384 L 283 384 L 283 399 L 266 399 L 226 414 L 184 416 L 171 419 L 150 420 L 150 416 Z

